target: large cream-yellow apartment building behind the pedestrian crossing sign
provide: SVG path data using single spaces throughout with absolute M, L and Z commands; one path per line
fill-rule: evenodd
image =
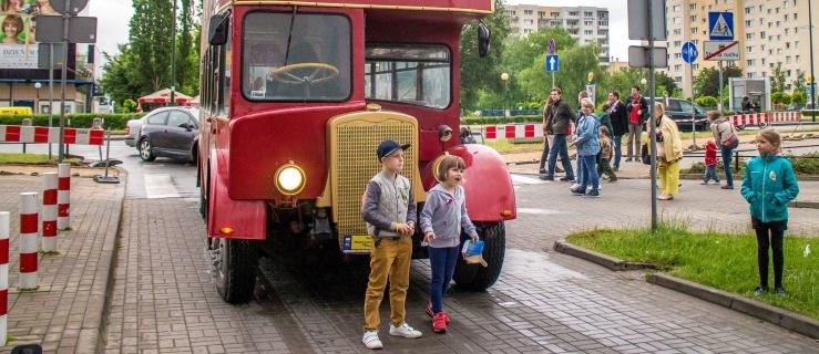
M 734 40 L 739 42 L 740 59 L 731 64 L 741 67 L 746 77 L 771 76 L 781 64 L 786 90 L 792 90 L 799 73 L 810 73 L 808 0 L 668 0 L 667 74 L 686 96 L 692 94 L 692 69 L 696 75 L 703 67 L 717 65 L 703 60 L 711 11 L 734 13 Z M 687 41 L 695 42 L 700 53 L 694 65 L 682 58 L 680 49 Z M 819 58 L 815 58 L 815 66 L 819 70 Z

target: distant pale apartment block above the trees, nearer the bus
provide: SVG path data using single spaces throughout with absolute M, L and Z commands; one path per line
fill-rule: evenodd
M 508 4 L 505 9 L 512 33 L 529 35 L 541 29 L 564 28 L 577 43 L 600 44 L 601 64 L 608 65 L 608 9 L 535 4 Z

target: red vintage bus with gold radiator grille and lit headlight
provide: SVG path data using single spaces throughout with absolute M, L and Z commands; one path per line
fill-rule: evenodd
M 484 290 L 514 219 L 501 156 L 459 139 L 459 41 L 493 0 L 206 0 L 198 145 L 201 212 L 231 303 L 250 299 L 259 254 L 368 254 L 360 215 L 376 146 L 412 144 L 403 175 L 421 210 L 444 154 L 467 163 L 468 210 L 489 267 L 461 262 L 455 281 Z M 420 231 L 413 257 L 427 254 Z

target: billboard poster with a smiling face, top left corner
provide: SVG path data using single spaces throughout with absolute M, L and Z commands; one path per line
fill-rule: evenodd
M 0 0 L 0 69 L 37 69 L 38 14 L 60 15 L 49 0 Z

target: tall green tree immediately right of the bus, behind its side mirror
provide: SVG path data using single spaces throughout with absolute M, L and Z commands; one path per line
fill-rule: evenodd
M 484 19 L 492 31 L 492 50 L 487 58 L 478 55 L 478 23 L 469 23 L 461 31 L 461 107 L 478 108 L 481 91 L 503 92 L 501 62 L 504 42 L 509 35 L 509 21 L 503 0 L 495 0 L 495 11 Z

